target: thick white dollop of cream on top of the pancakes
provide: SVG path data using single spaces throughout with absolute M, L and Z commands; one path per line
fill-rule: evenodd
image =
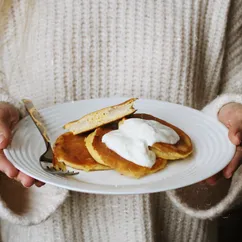
M 149 150 L 154 143 L 176 144 L 179 135 L 170 127 L 154 120 L 127 119 L 119 129 L 102 137 L 102 142 L 119 156 L 139 166 L 151 168 L 156 155 Z

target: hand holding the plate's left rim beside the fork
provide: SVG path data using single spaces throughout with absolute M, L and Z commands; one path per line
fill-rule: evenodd
M 14 178 L 21 182 L 25 187 L 31 187 L 33 184 L 40 187 L 43 185 L 42 182 L 36 181 L 34 178 L 18 171 L 4 155 L 3 149 L 10 143 L 11 130 L 18 121 L 18 110 L 11 104 L 0 102 L 0 171 L 9 178 Z

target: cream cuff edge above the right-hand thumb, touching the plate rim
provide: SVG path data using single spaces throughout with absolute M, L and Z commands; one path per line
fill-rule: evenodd
M 236 102 L 236 103 L 242 103 L 242 94 L 221 94 L 216 99 L 214 99 L 211 103 L 209 103 L 207 106 L 203 108 L 203 112 L 217 118 L 219 110 L 228 103 Z

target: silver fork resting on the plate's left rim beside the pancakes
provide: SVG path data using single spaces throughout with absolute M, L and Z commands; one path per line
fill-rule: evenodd
M 79 172 L 68 171 L 63 162 L 58 162 L 57 160 L 55 160 L 56 164 L 53 165 L 53 159 L 54 159 L 53 150 L 50 144 L 49 136 L 47 135 L 46 128 L 41 121 L 40 114 L 37 111 L 37 109 L 34 107 L 31 100 L 23 99 L 22 101 L 24 103 L 24 106 L 27 112 L 29 113 L 29 116 L 33 120 L 40 134 L 42 135 L 46 145 L 46 151 L 39 158 L 39 163 L 41 168 L 55 175 L 61 175 L 61 176 L 77 175 Z M 47 165 L 47 164 L 51 164 L 51 165 Z

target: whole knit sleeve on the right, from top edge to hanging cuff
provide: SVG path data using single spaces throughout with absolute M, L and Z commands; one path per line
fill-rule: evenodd
M 203 108 L 217 118 L 222 106 L 242 103 L 242 1 L 231 1 L 219 96 Z M 173 203 L 185 213 L 200 219 L 221 216 L 234 206 L 242 205 L 242 166 L 232 181 L 222 178 L 215 186 L 195 184 L 167 193 Z

